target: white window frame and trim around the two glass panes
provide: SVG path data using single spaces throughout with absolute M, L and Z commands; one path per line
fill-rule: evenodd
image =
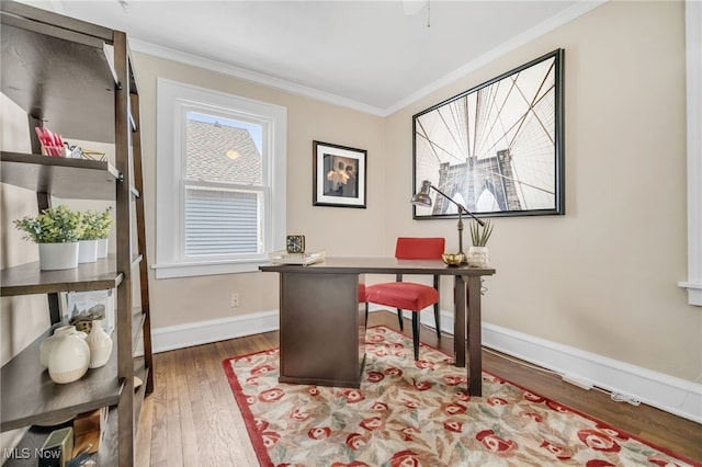
M 188 112 L 254 122 L 264 127 L 263 252 L 237 258 L 185 257 L 184 192 Z M 268 253 L 283 249 L 286 228 L 287 109 L 165 78 L 157 80 L 156 278 L 258 271 Z M 215 185 L 216 183 L 213 183 Z

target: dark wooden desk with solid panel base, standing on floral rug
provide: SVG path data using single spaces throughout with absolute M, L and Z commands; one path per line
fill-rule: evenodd
M 466 363 L 467 328 L 468 391 L 482 396 L 480 277 L 494 269 L 394 258 L 327 258 L 308 266 L 259 269 L 280 273 L 280 381 L 355 388 L 365 358 L 364 274 L 454 276 L 456 366 Z

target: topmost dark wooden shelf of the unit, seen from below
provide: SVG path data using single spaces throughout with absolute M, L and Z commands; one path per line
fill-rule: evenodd
M 64 139 L 114 143 L 116 83 L 104 41 L 57 26 L 25 26 L 2 12 L 3 92 Z

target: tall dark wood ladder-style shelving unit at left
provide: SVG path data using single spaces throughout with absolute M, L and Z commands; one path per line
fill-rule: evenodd
M 53 197 L 100 200 L 114 203 L 116 217 L 116 253 L 107 259 L 66 271 L 39 271 L 37 262 L 0 271 L 0 296 L 46 294 L 53 324 L 2 366 L 0 428 L 27 428 L 15 452 L 27 447 L 35 453 L 57 428 L 47 424 L 110 407 L 95 460 L 100 466 L 132 466 L 135 430 L 143 400 L 154 388 L 154 372 L 139 100 L 127 37 L 9 0 L 0 2 L 0 15 L 1 90 L 26 112 L 32 148 L 31 153 L 0 151 L 0 182 L 35 192 L 38 210 L 50 206 Z M 114 163 L 42 156 L 36 126 L 68 140 L 114 144 Z M 138 274 L 138 291 L 133 274 Z M 115 332 L 110 361 L 77 381 L 55 384 L 38 354 L 41 342 L 58 324 L 58 294 L 111 288 Z M 136 307 L 134 293 L 140 298 Z M 144 354 L 135 356 L 140 339 Z M 135 377 L 144 381 L 136 388 Z M 35 456 L 5 457 L 7 466 L 37 462 Z

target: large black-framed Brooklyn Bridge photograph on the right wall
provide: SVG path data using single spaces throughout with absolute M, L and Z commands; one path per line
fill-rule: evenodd
M 415 219 L 565 214 L 564 50 L 556 49 L 412 117 Z M 438 194 L 441 192 L 446 197 Z

